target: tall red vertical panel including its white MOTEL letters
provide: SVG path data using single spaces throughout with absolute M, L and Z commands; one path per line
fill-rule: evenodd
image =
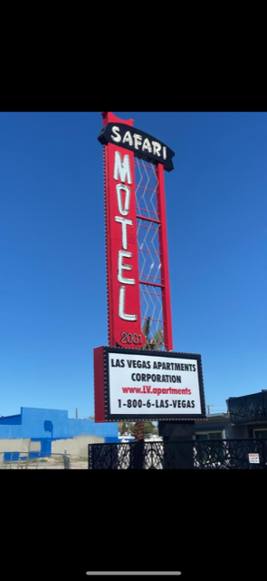
M 110 122 L 114 143 L 104 147 L 109 343 L 116 347 L 127 340 L 131 348 L 140 348 L 146 338 L 140 318 L 134 153 L 116 143 L 116 122 L 123 122 L 105 113 L 104 125 Z

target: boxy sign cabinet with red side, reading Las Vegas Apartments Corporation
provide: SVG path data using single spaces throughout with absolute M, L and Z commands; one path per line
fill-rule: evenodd
M 95 422 L 205 419 L 201 355 L 94 350 Z

